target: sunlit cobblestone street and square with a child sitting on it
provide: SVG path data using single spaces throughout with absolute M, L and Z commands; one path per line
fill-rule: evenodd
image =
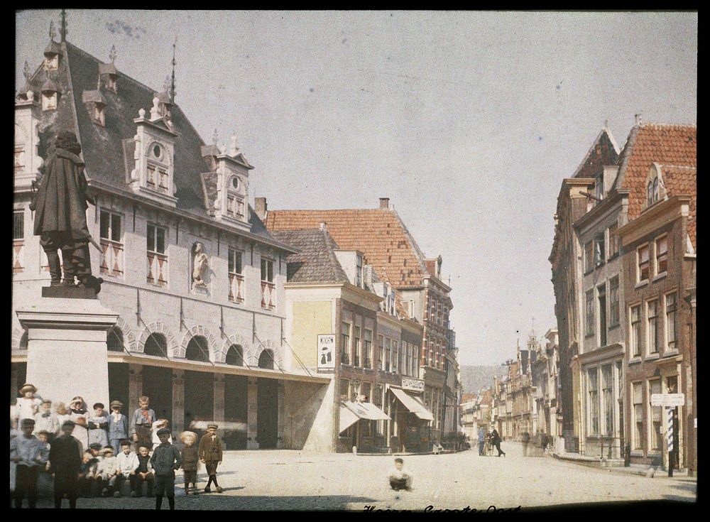
M 522 457 L 520 445 L 503 443 L 506 457 L 479 457 L 469 450 L 449 455 L 404 457 L 413 491 L 389 489 L 393 457 L 297 451 L 227 452 L 219 468 L 222 494 L 176 497 L 177 509 L 422 510 L 550 506 L 602 501 L 694 501 L 697 481 L 648 479 L 620 471 Z M 204 471 L 204 470 L 203 470 Z M 204 487 L 204 473 L 198 475 Z M 182 484 L 182 477 L 176 479 Z M 50 507 L 40 499 L 39 507 Z M 65 501 L 66 506 L 66 501 Z M 79 508 L 152 509 L 155 499 L 80 499 Z M 165 501 L 163 509 L 167 508 Z

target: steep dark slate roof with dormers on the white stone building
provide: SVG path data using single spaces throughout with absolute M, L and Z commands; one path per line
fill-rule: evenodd
M 82 146 L 82 157 L 86 163 L 85 172 L 89 183 L 96 180 L 117 191 L 128 189 L 127 181 L 135 166 L 133 152 L 138 110 L 149 112 L 153 106 L 155 89 L 141 84 L 120 71 L 117 74 L 117 90 L 100 89 L 97 91 L 99 72 L 114 72 L 113 64 L 84 52 L 68 42 L 56 44 L 60 54 L 59 68 L 48 75 L 40 65 L 28 79 L 26 89 L 39 93 L 40 86 L 52 80 L 62 94 L 58 107 L 54 111 L 40 113 L 38 153 L 46 158 L 53 143 L 53 137 L 60 130 L 70 130 L 77 134 Z M 94 124 L 92 115 L 84 105 L 84 93 L 88 97 L 100 96 L 106 103 L 104 108 L 105 126 Z M 214 194 L 214 187 L 203 185 L 203 173 L 210 173 L 214 165 L 202 157 L 204 142 L 187 116 L 178 105 L 173 104 L 170 111 L 175 137 L 174 173 L 179 210 L 194 214 L 196 217 L 209 218 L 207 196 Z M 278 244 L 266 231 L 261 220 L 249 206 L 251 233 L 263 237 L 272 244 Z M 286 247 L 286 245 L 283 245 Z

